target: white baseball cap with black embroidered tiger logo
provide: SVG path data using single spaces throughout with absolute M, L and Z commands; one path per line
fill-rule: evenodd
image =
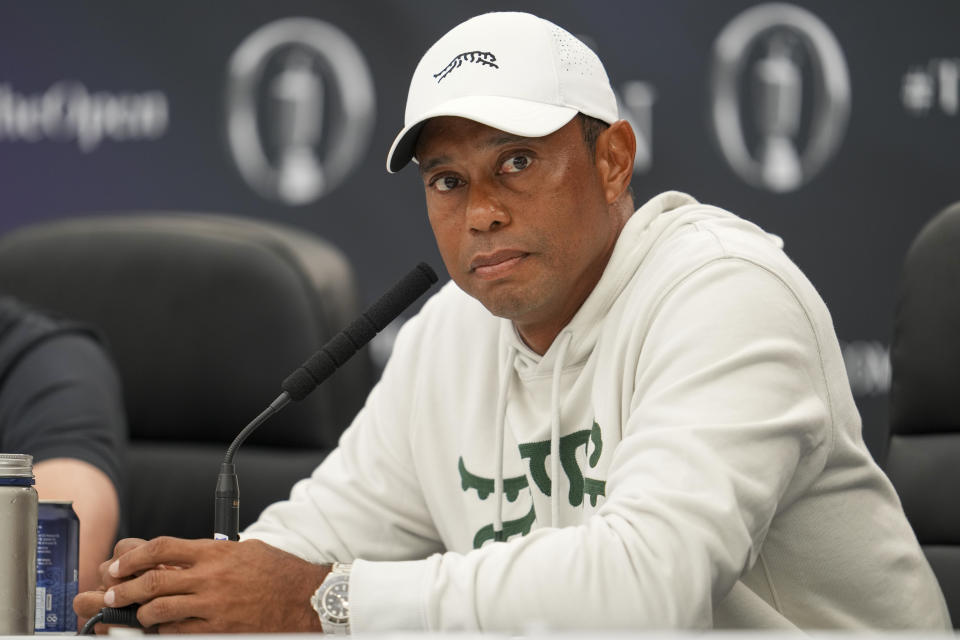
M 486 13 L 437 40 L 420 59 L 400 131 L 387 154 L 395 173 L 413 158 L 424 123 L 468 118 L 539 138 L 577 114 L 613 124 L 617 99 L 603 63 L 587 45 L 529 13 Z

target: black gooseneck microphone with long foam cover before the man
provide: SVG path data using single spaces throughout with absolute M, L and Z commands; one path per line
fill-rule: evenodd
M 299 402 L 307 397 L 363 345 L 370 342 L 373 336 L 426 293 L 436 281 L 437 274 L 425 262 L 414 267 L 346 329 L 331 338 L 309 360 L 287 376 L 281 385 L 283 393 L 234 438 L 227 448 L 220 465 L 220 475 L 217 477 L 213 522 L 215 540 L 240 539 L 240 487 L 233 458 L 243 441 L 290 400 Z

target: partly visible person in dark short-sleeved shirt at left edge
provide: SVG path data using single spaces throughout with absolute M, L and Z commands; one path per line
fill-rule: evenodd
M 0 451 L 33 456 L 41 500 L 72 500 L 79 589 L 116 541 L 126 420 L 116 371 L 96 336 L 0 297 Z

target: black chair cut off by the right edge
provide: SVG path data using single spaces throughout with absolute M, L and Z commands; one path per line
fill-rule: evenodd
M 960 203 L 933 218 L 907 252 L 891 364 L 886 471 L 958 626 Z

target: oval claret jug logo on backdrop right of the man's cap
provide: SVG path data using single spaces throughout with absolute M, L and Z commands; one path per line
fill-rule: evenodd
M 713 48 L 712 124 L 749 184 L 800 188 L 833 157 L 850 113 L 847 63 L 830 29 L 786 3 L 734 18 Z

